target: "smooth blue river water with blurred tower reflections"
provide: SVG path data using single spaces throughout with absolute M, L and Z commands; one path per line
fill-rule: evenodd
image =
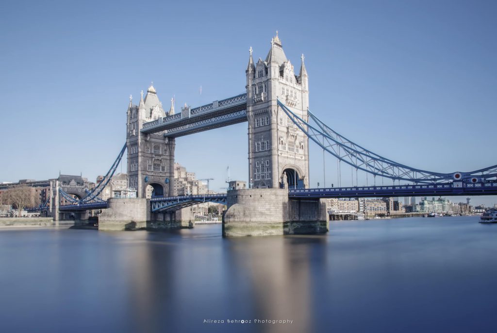
M 220 225 L 2 229 L 0 332 L 497 332 L 497 225 L 330 229 L 240 239 Z

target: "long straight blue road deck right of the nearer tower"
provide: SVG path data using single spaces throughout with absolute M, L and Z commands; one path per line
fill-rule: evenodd
M 288 191 L 288 196 L 291 198 L 367 198 L 396 196 L 466 196 L 496 194 L 497 181 L 479 183 L 465 183 L 461 181 L 398 186 L 307 188 L 290 189 Z

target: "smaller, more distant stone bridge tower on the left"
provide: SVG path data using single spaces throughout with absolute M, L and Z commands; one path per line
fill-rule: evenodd
M 140 133 L 143 123 L 162 121 L 166 114 L 172 113 L 172 101 L 166 113 L 153 84 L 147 89 L 145 99 L 141 92 L 139 105 L 133 105 L 130 96 L 126 122 L 128 183 L 130 188 L 137 190 L 138 198 L 150 197 L 151 192 L 153 195 L 173 195 L 174 138 L 165 138 L 163 132 Z

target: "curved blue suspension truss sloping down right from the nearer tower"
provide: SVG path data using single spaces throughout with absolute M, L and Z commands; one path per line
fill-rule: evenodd
M 399 181 L 405 180 L 414 183 L 435 183 L 437 181 L 447 180 L 464 180 L 466 182 L 477 183 L 487 178 L 497 176 L 497 165 L 470 172 L 457 171 L 451 173 L 432 172 L 414 167 L 408 167 L 375 154 L 348 140 L 328 127 L 309 110 L 309 118 L 316 123 L 315 126 L 295 114 L 279 99 L 277 102 L 293 123 L 312 141 L 318 144 L 318 146 L 323 148 L 332 156 L 336 157 L 338 160 L 355 167 L 357 170 L 363 170 L 371 173 L 374 176 L 381 176 Z

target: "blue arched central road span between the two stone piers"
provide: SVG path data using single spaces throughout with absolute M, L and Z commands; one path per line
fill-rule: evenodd
M 173 212 L 202 202 L 226 205 L 226 193 L 154 197 L 150 199 L 150 209 L 153 213 Z

